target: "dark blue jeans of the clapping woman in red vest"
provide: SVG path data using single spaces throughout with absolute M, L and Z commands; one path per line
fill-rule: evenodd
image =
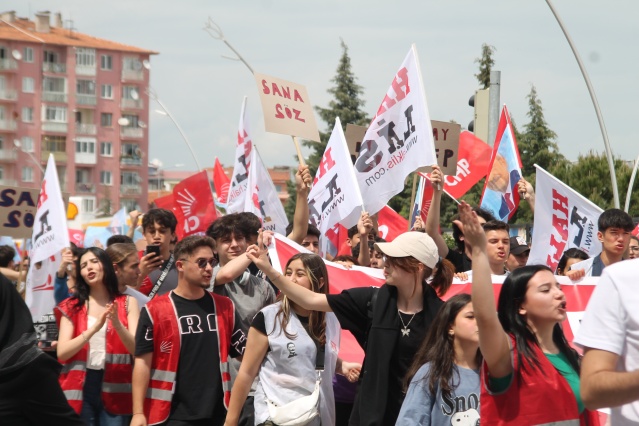
M 111 414 L 102 404 L 103 376 L 104 370 L 87 368 L 80 417 L 88 426 L 127 426 L 131 422 L 131 416 Z

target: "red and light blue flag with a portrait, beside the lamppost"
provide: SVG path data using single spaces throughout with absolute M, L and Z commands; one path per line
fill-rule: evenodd
M 491 212 L 498 220 L 508 222 L 519 206 L 517 183 L 522 174 L 517 140 L 506 105 L 501 110 L 489 170 L 481 208 Z

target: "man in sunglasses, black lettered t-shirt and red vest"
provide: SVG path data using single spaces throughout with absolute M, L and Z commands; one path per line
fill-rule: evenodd
M 174 251 L 177 288 L 140 313 L 132 426 L 224 424 L 228 360 L 242 355 L 246 337 L 233 303 L 205 290 L 215 265 L 213 246 L 209 237 L 180 241 Z

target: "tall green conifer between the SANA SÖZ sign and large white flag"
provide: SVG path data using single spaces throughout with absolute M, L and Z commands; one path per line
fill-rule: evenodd
M 303 144 L 312 149 L 306 163 L 309 166 L 311 176 L 315 176 L 319 162 L 324 155 L 324 150 L 328 144 L 333 127 L 335 126 L 335 118 L 339 117 L 343 130 L 346 125 L 357 124 L 366 126 L 370 122 L 370 118 L 366 116 L 363 110 L 364 100 L 362 95 L 364 89 L 357 84 L 357 77 L 353 73 L 351 67 L 351 58 L 348 56 L 348 46 L 341 40 L 342 56 L 337 65 L 335 77 L 331 80 L 333 87 L 327 90 L 333 95 L 333 99 L 328 103 L 327 108 L 315 107 L 317 114 L 326 123 L 326 132 L 320 132 L 320 142 L 304 141 Z M 286 215 L 289 221 L 292 221 L 295 212 L 295 202 L 297 200 L 295 194 L 295 182 L 288 183 L 288 193 L 290 197 L 286 203 Z M 409 193 L 410 196 L 410 193 Z

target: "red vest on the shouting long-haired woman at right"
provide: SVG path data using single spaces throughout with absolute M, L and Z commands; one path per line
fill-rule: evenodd
M 568 381 L 557 371 L 542 350 L 533 345 L 541 368 L 524 363 L 518 365 L 517 346 L 512 345 L 513 380 L 500 394 L 490 393 L 486 387 L 488 366 L 482 365 L 481 423 L 487 425 L 549 425 L 598 426 L 596 412 L 584 410 L 579 415 L 577 399 Z

